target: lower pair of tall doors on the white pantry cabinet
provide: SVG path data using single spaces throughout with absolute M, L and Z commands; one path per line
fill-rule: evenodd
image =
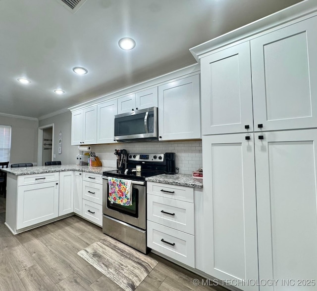
M 203 152 L 204 271 L 316 291 L 317 129 L 204 136 Z

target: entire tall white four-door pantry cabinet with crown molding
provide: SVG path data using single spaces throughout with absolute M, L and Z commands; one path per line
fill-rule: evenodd
M 317 5 L 304 2 L 282 25 L 257 23 L 260 33 L 250 26 L 234 42 L 192 49 L 209 222 L 203 271 L 249 282 L 236 285 L 245 291 L 317 290 Z M 303 5 L 312 12 L 289 20 Z M 285 12 L 276 15 L 283 23 Z

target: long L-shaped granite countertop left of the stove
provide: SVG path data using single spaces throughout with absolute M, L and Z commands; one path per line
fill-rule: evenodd
M 43 174 L 52 172 L 64 172 L 64 171 L 80 171 L 94 174 L 102 174 L 104 171 L 115 170 L 115 167 L 108 166 L 77 166 L 77 165 L 58 165 L 58 166 L 28 166 L 28 167 L 14 167 L 3 168 L 2 171 L 13 174 L 15 176 L 20 175 L 32 175 Z

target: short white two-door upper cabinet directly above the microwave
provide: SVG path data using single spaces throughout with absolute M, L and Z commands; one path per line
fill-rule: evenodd
M 118 114 L 158 106 L 158 87 L 118 98 Z

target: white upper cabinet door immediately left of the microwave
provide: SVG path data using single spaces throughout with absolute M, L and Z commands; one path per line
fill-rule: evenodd
M 97 106 L 97 143 L 114 143 L 114 116 L 118 113 L 118 100 Z

